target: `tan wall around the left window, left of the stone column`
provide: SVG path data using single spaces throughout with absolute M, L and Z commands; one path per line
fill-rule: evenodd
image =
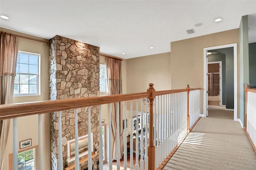
M 29 38 L 34 38 L 36 40 L 48 41 L 42 38 L 29 36 L 19 32 L 14 32 L 4 28 L 0 28 L 0 31 L 16 34 L 20 36 L 26 36 Z M 14 97 L 13 103 L 23 103 L 31 101 L 45 101 L 49 100 L 49 45 L 45 45 L 40 42 L 35 42 L 26 39 L 19 39 L 19 50 L 27 51 L 32 53 L 41 54 L 41 70 L 40 70 L 40 86 L 41 95 L 38 96 L 28 96 L 28 97 Z M 50 115 L 43 115 L 43 152 L 44 152 L 44 162 L 43 169 L 50 169 Z M 10 130 L 8 135 L 8 141 L 4 156 L 4 166 L 3 170 L 8 169 L 8 154 L 12 153 L 13 144 L 13 128 L 12 121 L 10 124 Z M 26 116 L 18 118 L 18 144 L 22 140 L 32 138 L 32 146 L 38 145 L 38 115 Z M 19 148 L 19 147 L 18 147 Z M 20 150 L 20 149 L 19 149 Z

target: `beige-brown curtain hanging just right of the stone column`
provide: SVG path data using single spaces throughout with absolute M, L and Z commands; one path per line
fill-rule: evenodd
M 119 95 L 122 94 L 122 64 L 121 60 L 113 59 L 106 57 L 107 63 L 107 73 L 108 73 L 108 85 L 109 85 L 109 94 L 110 95 Z M 117 107 L 119 105 L 119 120 L 117 120 Z M 117 140 L 120 141 L 120 159 L 123 155 L 122 150 L 122 104 L 120 102 L 112 104 L 111 108 L 111 123 L 112 123 L 112 135 L 114 136 L 114 146 L 113 146 L 113 160 L 116 160 L 117 154 Z M 119 121 L 120 125 L 120 136 L 117 136 L 117 122 Z

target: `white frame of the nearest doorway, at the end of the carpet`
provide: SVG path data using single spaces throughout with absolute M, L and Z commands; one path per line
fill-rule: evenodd
M 207 107 L 208 107 L 208 97 L 207 97 L 207 88 L 208 88 L 208 71 L 207 71 L 207 51 L 212 49 L 220 49 L 233 47 L 234 49 L 234 121 L 238 121 L 237 119 L 237 43 L 219 45 L 215 47 L 207 47 L 204 48 L 204 117 L 207 115 Z

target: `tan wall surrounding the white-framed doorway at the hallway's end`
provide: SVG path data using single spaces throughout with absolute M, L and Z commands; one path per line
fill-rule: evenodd
M 171 88 L 182 89 L 186 84 L 189 84 L 191 88 L 204 88 L 204 48 L 231 43 L 238 44 L 239 70 L 238 29 L 171 42 Z

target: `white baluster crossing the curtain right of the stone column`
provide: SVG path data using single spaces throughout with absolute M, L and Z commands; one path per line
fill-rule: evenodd
M 117 127 L 117 130 L 116 130 L 116 145 L 117 145 L 117 148 L 116 148 L 116 164 L 117 164 L 117 170 L 120 170 L 120 102 L 117 102 L 116 103 L 117 107 L 117 114 L 116 114 L 116 127 Z

